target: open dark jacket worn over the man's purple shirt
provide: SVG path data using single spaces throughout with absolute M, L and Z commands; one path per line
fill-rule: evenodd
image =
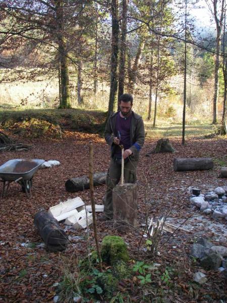
M 105 141 L 106 143 L 111 146 L 111 157 L 115 154 L 116 144 L 113 143 L 113 137 L 117 137 L 116 134 L 116 120 L 117 120 L 117 113 L 113 113 L 105 126 Z M 132 150 L 133 156 L 135 160 L 139 159 L 139 151 L 144 144 L 145 140 L 145 130 L 144 130 L 144 123 L 141 116 L 137 115 L 132 111 L 132 121 L 130 126 L 130 142 L 131 147 L 129 149 Z

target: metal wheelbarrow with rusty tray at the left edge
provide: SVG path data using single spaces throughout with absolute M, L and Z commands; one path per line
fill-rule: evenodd
M 11 182 L 21 184 L 22 191 L 31 197 L 32 178 L 45 160 L 41 159 L 13 159 L 0 166 L 0 178 L 3 182 L 1 197 L 7 195 Z

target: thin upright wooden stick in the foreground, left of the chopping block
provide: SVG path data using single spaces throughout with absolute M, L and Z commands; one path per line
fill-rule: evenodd
M 91 196 L 91 209 L 92 209 L 92 218 L 93 218 L 93 228 L 94 228 L 94 238 L 96 243 L 96 249 L 99 259 L 99 267 L 102 272 L 102 260 L 101 254 L 99 250 L 98 244 L 98 236 L 97 236 L 97 223 L 96 223 L 96 215 L 95 215 L 95 201 L 94 201 L 94 184 L 93 184 L 93 143 L 89 142 L 89 180 L 90 180 L 90 196 Z

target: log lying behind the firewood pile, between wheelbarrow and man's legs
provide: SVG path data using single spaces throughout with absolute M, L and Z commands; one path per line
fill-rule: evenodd
M 94 186 L 105 184 L 106 172 L 95 173 L 93 175 Z M 90 188 L 88 176 L 71 178 L 65 183 L 66 190 L 69 192 L 83 191 Z

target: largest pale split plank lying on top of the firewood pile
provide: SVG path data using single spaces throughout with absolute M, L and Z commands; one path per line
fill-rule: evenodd
M 70 199 L 58 205 L 50 207 L 48 213 L 51 214 L 54 218 L 56 218 L 64 213 L 70 212 L 82 206 L 84 206 L 83 200 L 80 197 L 76 197 L 74 199 Z

